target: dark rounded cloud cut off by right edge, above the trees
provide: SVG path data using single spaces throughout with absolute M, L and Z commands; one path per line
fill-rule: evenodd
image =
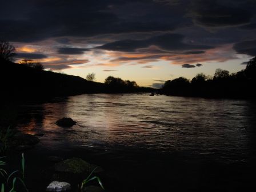
M 247 54 L 251 56 L 256 55 L 256 39 L 251 41 L 242 41 L 235 43 L 233 49 L 240 54 Z

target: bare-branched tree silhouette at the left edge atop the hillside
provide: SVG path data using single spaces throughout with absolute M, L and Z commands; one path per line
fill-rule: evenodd
M 0 61 L 11 61 L 14 53 L 15 47 L 9 42 L 0 41 Z

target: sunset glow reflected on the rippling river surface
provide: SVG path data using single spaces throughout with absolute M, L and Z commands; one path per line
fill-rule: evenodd
M 184 151 L 220 162 L 246 161 L 254 153 L 256 108 L 250 101 L 87 94 L 23 109 L 29 121 L 19 129 L 45 134 L 41 142 L 49 149 Z M 78 125 L 58 127 L 62 117 Z

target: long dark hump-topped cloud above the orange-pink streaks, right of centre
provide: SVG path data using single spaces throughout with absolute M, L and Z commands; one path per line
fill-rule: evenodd
M 146 48 L 151 45 L 158 46 L 162 50 L 200 50 L 211 49 L 212 46 L 206 45 L 190 45 L 183 43 L 184 36 L 181 34 L 163 34 L 143 40 L 123 40 L 106 43 L 105 45 L 97 47 L 98 49 L 114 50 L 114 51 L 135 51 L 139 48 Z

